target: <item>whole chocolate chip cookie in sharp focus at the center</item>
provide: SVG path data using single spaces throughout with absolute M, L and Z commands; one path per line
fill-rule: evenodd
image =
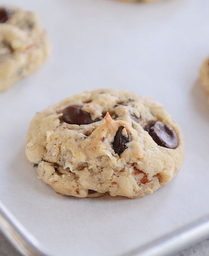
M 184 139 L 152 98 L 99 89 L 36 114 L 25 152 L 38 178 L 58 193 L 137 198 L 175 176 Z

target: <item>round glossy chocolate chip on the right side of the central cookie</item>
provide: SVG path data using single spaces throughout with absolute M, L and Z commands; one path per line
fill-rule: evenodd
M 145 129 L 157 145 L 167 148 L 178 147 L 178 136 L 173 128 L 160 121 L 150 121 Z

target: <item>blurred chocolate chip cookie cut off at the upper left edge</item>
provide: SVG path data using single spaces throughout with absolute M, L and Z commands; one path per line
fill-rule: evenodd
M 49 51 L 49 39 L 37 14 L 0 7 L 0 91 L 36 70 Z

